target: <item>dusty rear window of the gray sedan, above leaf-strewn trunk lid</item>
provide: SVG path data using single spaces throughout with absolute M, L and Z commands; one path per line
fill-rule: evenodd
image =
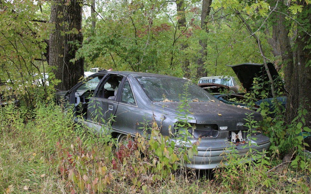
M 147 96 L 156 102 L 180 101 L 187 94 L 188 99 L 194 101 L 216 100 L 211 94 L 196 84 L 176 78 L 167 77 L 136 77 Z

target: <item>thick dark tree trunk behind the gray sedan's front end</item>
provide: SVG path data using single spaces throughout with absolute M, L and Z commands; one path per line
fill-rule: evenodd
M 61 80 L 55 88 L 69 90 L 84 74 L 83 59 L 70 62 L 83 41 L 81 1 L 55 0 L 50 22 L 55 24 L 55 29 L 49 38 L 49 64 L 56 67 L 55 78 Z

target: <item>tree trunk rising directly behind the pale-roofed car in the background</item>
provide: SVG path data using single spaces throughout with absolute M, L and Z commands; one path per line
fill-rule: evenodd
M 211 12 L 211 0 L 203 0 L 202 1 L 202 13 L 201 13 L 201 28 L 205 30 L 205 32 L 208 34 L 208 28 L 207 28 L 207 20 Z M 206 49 L 206 43 L 203 40 L 199 41 L 199 44 L 201 45 L 201 57 L 197 60 L 197 78 L 205 77 L 207 76 L 207 73 L 204 68 L 204 57 L 207 55 L 205 49 Z

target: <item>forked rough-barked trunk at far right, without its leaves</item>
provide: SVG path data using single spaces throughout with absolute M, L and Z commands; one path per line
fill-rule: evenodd
M 310 4 L 306 5 L 304 1 L 301 1 L 301 5 L 304 4 L 302 13 L 304 18 L 310 18 Z M 298 14 L 298 19 L 303 14 Z M 297 25 L 297 38 L 295 40 L 296 48 L 291 48 L 289 31 L 285 26 L 285 14 L 276 14 L 277 18 L 277 34 L 278 41 L 280 43 L 282 62 L 285 66 L 285 88 L 288 91 L 287 104 L 285 110 L 285 121 L 290 124 L 292 120 L 298 115 L 300 108 L 308 110 L 305 117 L 305 125 L 310 126 L 310 107 L 307 103 L 311 102 L 311 69 L 310 69 L 310 52 L 311 49 L 307 46 L 310 43 L 310 29 L 302 28 L 304 26 Z M 308 20 L 309 25 L 311 24 Z M 307 31 L 305 31 L 307 30 Z M 309 33 L 309 34 L 308 34 Z M 294 52 L 292 51 L 294 50 Z M 289 150 L 285 154 L 282 162 L 288 162 L 291 160 L 294 150 Z

